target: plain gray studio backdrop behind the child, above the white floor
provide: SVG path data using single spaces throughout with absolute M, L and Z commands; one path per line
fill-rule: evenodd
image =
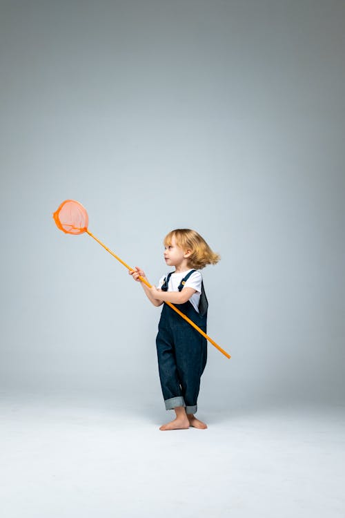
M 2 390 L 162 405 L 152 283 L 196 229 L 208 408 L 344 401 L 345 3 L 1 1 Z

